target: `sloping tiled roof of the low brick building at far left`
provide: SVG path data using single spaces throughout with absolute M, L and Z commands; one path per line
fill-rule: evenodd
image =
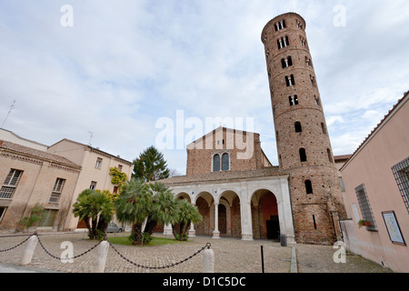
M 5 140 L 0 140 L 0 151 L 2 150 L 7 150 L 25 156 L 32 156 L 34 158 L 50 161 L 56 164 L 81 168 L 80 166 L 74 164 L 73 162 L 71 162 L 70 160 L 66 159 L 63 156 L 57 156 L 28 146 L 17 145 L 15 143 L 11 143 Z

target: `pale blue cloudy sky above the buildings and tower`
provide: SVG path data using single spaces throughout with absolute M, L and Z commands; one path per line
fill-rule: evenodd
M 407 0 L 0 0 L 0 123 L 132 161 L 159 146 L 165 118 L 174 146 L 162 152 L 185 174 L 180 122 L 205 134 L 206 118 L 252 118 L 277 165 L 260 35 L 286 12 L 307 23 L 334 155 L 352 154 L 409 90 Z

